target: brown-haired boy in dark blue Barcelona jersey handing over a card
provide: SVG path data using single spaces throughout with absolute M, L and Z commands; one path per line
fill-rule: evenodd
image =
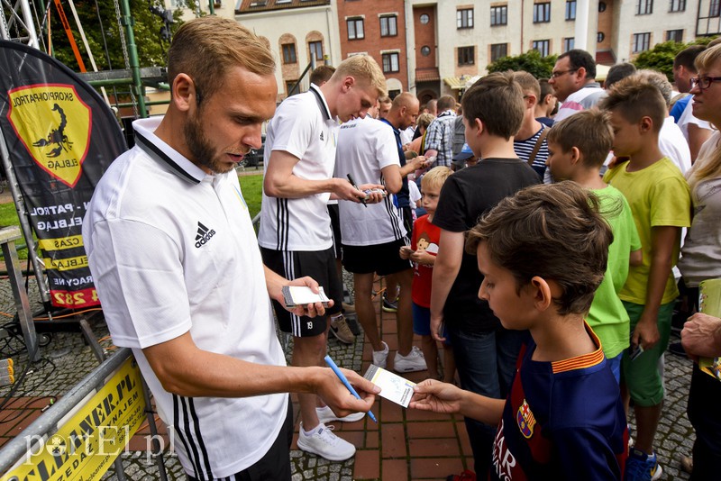
M 479 297 L 530 337 L 506 400 L 429 379 L 410 407 L 497 424 L 490 479 L 621 479 L 628 432 L 616 378 L 584 321 L 613 234 L 570 181 L 507 197 L 469 231 Z

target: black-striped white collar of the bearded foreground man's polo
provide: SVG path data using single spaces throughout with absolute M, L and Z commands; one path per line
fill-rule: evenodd
M 193 184 L 199 184 L 207 174 L 184 157 L 178 150 L 173 149 L 155 135 L 155 129 L 160 125 L 161 117 L 140 119 L 132 123 L 135 145 L 148 154 L 152 159 L 166 164 L 178 177 L 186 179 Z

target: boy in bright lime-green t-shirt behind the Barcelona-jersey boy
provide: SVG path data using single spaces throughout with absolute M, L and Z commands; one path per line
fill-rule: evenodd
M 601 214 L 614 232 L 606 275 L 596 290 L 586 322 L 601 340 L 608 366 L 620 383 L 630 320 L 618 294 L 628 276 L 629 263 L 639 265 L 642 259 L 631 207 L 618 189 L 600 177 L 613 140 L 607 113 L 597 109 L 576 113 L 553 125 L 548 133 L 548 164 L 554 179 L 573 180 L 598 195 Z

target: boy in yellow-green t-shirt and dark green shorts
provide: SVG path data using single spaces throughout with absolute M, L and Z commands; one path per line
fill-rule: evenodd
M 600 107 L 610 113 L 614 154 L 629 158 L 610 169 L 604 180 L 631 206 L 643 254 L 641 265 L 629 269 L 620 293 L 631 318 L 631 350 L 636 351 L 633 358 L 626 352 L 621 361 L 637 428 L 626 479 L 658 479 L 662 469 L 653 452 L 663 401 L 658 360 L 669 343 L 673 302 L 679 295 L 671 268 L 679 259 L 681 228 L 690 225 L 689 185 L 659 150 L 666 104 L 655 86 L 638 77 L 625 78 Z

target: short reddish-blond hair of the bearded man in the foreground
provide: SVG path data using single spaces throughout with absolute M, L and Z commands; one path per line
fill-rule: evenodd
M 168 50 L 168 83 L 178 74 L 193 79 L 199 99 L 223 86 L 231 68 L 242 67 L 261 76 L 273 75 L 273 54 L 255 33 L 234 20 L 207 15 L 178 29 Z

